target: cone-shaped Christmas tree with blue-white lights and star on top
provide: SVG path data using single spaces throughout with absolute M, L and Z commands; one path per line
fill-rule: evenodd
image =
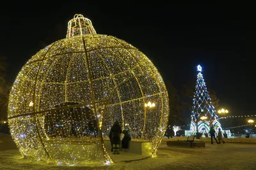
M 204 77 L 202 74 L 202 67 L 197 66 L 197 80 L 196 88 L 193 98 L 192 115 L 191 115 L 191 132 L 204 132 L 208 133 L 211 125 L 214 125 L 214 129 L 221 128 L 220 122 L 218 122 L 216 110 L 211 103 L 211 97 L 205 85 Z

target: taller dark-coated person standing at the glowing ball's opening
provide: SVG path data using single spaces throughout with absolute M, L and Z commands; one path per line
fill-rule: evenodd
M 122 133 L 122 128 L 118 122 L 118 120 L 115 121 L 113 126 L 110 129 L 110 135 L 111 136 L 111 145 L 113 148 L 114 154 L 120 154 L 119 153 L 119 146 L 120 146 L 120 141 L 121 141 L 121 133 Z

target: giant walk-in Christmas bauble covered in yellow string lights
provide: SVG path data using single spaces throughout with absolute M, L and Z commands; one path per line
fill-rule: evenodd
M 22 67 L 8 106 L 20 153 L 60 164 L 113 162 L 104 140 L 116 119 L 132 140 L 152 141 L 154 154 L 168 114 L 154 64 L 125 41 L 97 34 L 83 15 L 68 22 L 67 38 Z

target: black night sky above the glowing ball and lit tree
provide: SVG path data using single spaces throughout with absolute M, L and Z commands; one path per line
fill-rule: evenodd
M 84 1 L 85 2 L 85 1 Z M 42 2 L 43 3 L 43 2 Z M 76 4 L 75 4 L 76 3 Z M 242 6 L 74 3 L 1 7 L 1 55 L 8 79 L 46 45 L 65 38 L 76 13 L 92 20 L 98 34 L 124 39 L 152 60 L 164 81 L 177 89 L 204 71 L 220 106 L 234 115 L 255 114 L 255 18 Z

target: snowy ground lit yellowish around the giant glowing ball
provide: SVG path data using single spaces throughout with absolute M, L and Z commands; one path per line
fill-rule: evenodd
M 206 143 L 205 148 L 168 147 L 163 141 L 157 150 L 156 158 L 148 158 L 132 162 L 116 160 L 115 165 L 100 167 L 84 166 L 56 166 L 44 162 L 33 162 L 21 159 L 20 153 L 11 138 L 0 136 L 0 169 L 256 169 L 256 144 L 225 143 L 211 145 Z M 124 159 L 126 153 L 119 155 Z

